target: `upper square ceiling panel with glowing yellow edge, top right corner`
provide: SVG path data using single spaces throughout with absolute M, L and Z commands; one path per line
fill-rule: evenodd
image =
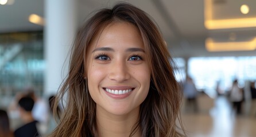
M 247 5 L 249 13 L 241 13 Z M 204 26 L 208 30 L 256 27 L 256 1 L 204 0 Z

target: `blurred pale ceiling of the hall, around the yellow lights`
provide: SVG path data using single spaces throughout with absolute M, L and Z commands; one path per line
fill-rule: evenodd
M 77 0 L 79 23 L 87 15 L 101 7 L 111 7 L 116 0 Z M 214 18 L 256 17 L 255 0 L 214 0 Z M 251 56 L 256 51 L 230 51 L 210 53 L 205 50 L 207 37 L 227 39 L 235 33 L 240 39 L 256 37 L 256 28 L 207 30 L 204 27 L 204 0 L 128 0 L 146 11 L 156 21 L 168 43 L 170 53 L 175 57 L 202 56 Z M 242 4 L 250 6 L 250 13 L 239 11 Z M 42 26 L 28 21 L 30 14 L 44 17 L 43 0 L 15 0 L 13 5 L 0 5 L 0 33 L 43 30 Z

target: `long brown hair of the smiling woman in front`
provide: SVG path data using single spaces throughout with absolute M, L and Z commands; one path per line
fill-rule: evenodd
M 69 74 L 57 95 L 57 100 L 60 101 L 67 94 L 67 103 L 59 125 L 51 136 L 98 136 L 96 104 L 88 92 L 85 78 L 86 51 L 96 34 L 107 25 L 119 21 L 129 22 L 138 28 L 148 53 L 151 70 L 149 94 L 140 106 L 139 121 L 134 125 L 131 135 L 137 130 L 141 130 L 145 137 L 181 135 L 176 126 L 181 91 L 174 78 L 170 64 L 172 58 L 164 39 L 144 11 L 129 3 L 118 3 L 113 9 L 98 11 L 79 29 L 72 47 Z

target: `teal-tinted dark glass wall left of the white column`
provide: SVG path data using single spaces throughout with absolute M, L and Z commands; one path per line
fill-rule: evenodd
M 42 31 L 0 34 L 0 96 L 14 96 L 26 87 L 42 95 L 44 49 Z

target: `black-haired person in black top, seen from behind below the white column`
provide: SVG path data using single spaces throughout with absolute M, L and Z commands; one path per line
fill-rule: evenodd
M 23 126 L 14 131 L 15 137 L 36 137 L 39 136 L 37 130 L 37 121 L 34 120 L 32 115 L 32 108 L 34 106 L 34 100 L 28 96 L 21 98 L 18 101 L 20 106 L 20 115 L 22 121 L 25 123 Z

